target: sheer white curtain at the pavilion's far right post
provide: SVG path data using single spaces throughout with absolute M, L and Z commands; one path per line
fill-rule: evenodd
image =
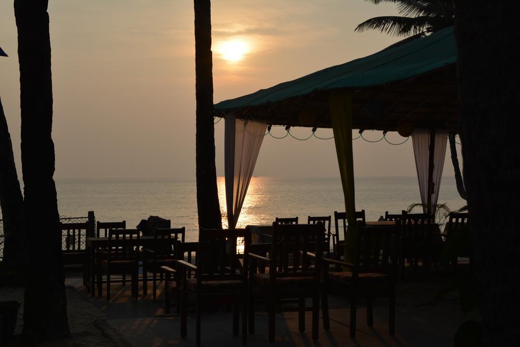
M 435 150 L 433 155 L 433 188 L 432 205 L 437 204 L 440 190 L 440 179 L 443 176 L 444 159 L 446 158 L 446 143 L 448 142 L 447 132 L 436 132 Z M 428 165 L 430 163 L 430 131 L 418 129 L 412 135 L 413 154 L 415 156 L 415 168 L 417 168 L 417 178 L 419 179 L 419 190 L 421 192 L 421 203 L 426 212 L 428 201 Z

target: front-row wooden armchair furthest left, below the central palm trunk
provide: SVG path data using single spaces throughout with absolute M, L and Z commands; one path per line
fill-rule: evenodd
M 244 238 L 243 265 L 237 268 L 239 258 L 235 246 L 238 237 Z M 180 274 L 180 336 L 187 336 L 187 303 L 196 305 L 196 343 L 201 343 L 201 311 L 204 305 L 231 304 L 233 335 L 239 335 L 239 306 L 243 307 L 242 343 L 247 339 L 247 269 L 251 234 L 244 229 L 201 229 L 199 230 L 199 249 L 197 265 L 184 260 L 177 260 Z M 195 278 L 189 278 L 188 270 L 195 272 Z

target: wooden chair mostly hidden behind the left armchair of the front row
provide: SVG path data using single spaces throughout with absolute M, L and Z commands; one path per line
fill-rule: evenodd
M 179 242 L 177 243 L 175 255 L 177 260 L 187 261 L 188 263 L 195 264 L 197 259 L 197 251 L 199 250 L 198 242 Z M 164 272 L 164 301 L 165 301 L 165 313 L 170 314 L 171 299 L 175 298 L 175 310 L 180 313 L 180 272 L 178 271 L 177 262 L 174 266 L 161 266 Z M 186 277 L 194 278 L 195 272 L 191 269 L 187 269 Z

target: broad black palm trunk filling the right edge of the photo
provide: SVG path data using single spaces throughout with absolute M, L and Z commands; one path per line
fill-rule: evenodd
M 464 182 L 484 344 L 516 345 L 518 322 L 518 0 L 457 1 Z

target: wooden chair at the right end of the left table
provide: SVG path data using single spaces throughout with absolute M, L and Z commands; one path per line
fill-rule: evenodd
M 176 260 L 176 243 L 184 242 L 185 228 L 155 228 L 153 248 L 142 251 L 142 295 L 148 294 L 148 273 L 152 273 L 153 300 L 157 297 L 157 274 L 161 274 L 161 266 L 173 266 Z M 173 239 L 173 242 L 172 242 Z

